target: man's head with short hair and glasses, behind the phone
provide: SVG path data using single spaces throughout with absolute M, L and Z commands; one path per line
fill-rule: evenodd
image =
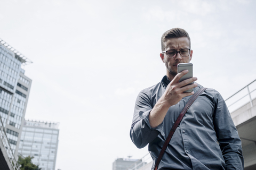
M 193 50 L 190 50 L 190 38 L 187 31 L 173 28 L 166 31 L 161 38 L 161 60 L 166 66 L 166 75 L 172 80 L 177 74 L 179 63 L 189 63 Z

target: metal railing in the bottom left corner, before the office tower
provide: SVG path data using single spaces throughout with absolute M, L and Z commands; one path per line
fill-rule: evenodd
M 20 170 L 20 167 L 19 167 L 19 165 L 17 163 L 17 160 L 14 158 L 14 154 L 12 152 L 9 140 L 7 139 L 7 135 L 5 133 L 4 124 L 2 122 L 2 118 L 1 117 L 0 117 L 0 142 L 3 143 L 4 149 L 5 149 L 7 157 L 8 157 L 8 160 L 5 160 L 5 161 L 6 162 L 9 161 L 9 163 L 10 163 L 9 165 L 12 166 L 13 170 Z M 4 151 L 4 149 L 2 149 L 2 152 Z

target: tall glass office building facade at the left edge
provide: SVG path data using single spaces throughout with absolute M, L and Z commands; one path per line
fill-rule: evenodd
M 0 117 L 15 158 L 32 82 L 21 68 L 28 63 L 28 58 L 0 39 Z

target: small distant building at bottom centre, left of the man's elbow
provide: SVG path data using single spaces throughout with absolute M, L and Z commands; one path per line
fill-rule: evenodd
M 140 168 L 143 166 L 141 159 L 130 159 L 130 158 L 118 158 L 113 163 L 113 170 L 128 170 L 132 169 L 135 165 Z

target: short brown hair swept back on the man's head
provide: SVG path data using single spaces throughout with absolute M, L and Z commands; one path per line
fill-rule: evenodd
M 188 32 L 185 31 L 184 29 L 182 28 L 172 28 L 166 32 L 163 33 L 163 36 L 161 38 L 161 47 L 162 47 L 162 51 L 165 50 L 165 47 L 164 47 L 164 42 L 166 41 L 166 39 L 169 39 L 169 38 L 180 38 L 180 37 L 188 37 L 188 40 L 189 40 L 189 48 L 191 46 L 191 43 L 190 43 L 190 37 L 188 35 Z

